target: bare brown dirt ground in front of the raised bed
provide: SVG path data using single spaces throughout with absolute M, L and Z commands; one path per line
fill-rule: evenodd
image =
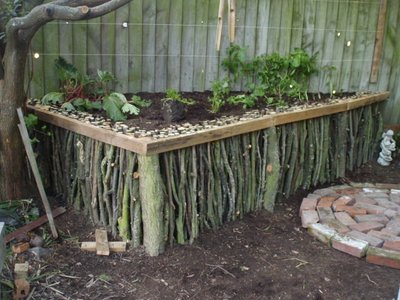
M 399 161 L 386 168 L 370 162 L 342 181 L 400 183 Z M 31 265 L 30 299 L 396 299 L 400 270 L 331 249 L 301 228 L 298 209 L 308 192 L 282 201 L 274 214 L 247 215 L 159 257 L 142 247 L 108 257 L 81 251 L 95 228 L 68 208 L 56 219 L 62 238 L 52 254 L 17 261 Z

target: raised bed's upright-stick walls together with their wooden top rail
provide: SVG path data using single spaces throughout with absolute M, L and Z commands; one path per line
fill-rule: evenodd
M 388 96 L 264 112 L 165 138 L 30 108 L 55 125 L 55 189 L 95 224 L 157 255 L 166 241 L 192 242 L 248 212 L 272 211 L 276 199 L 371 159 L 382 133 L 379 102 Z

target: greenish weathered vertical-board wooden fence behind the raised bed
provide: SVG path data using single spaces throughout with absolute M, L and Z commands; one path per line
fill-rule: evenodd
M 220 62 L 229 46 L 225 9 L 221 50 L 216 50 L 218 7 L 217 0 L 134 0 L 100 19 L 49 23 L 32 43 L 30 93 L 40 97 L 57 89 L 53 65 L 59 55 L 82 72 L 113 72 L 121 92 L 209 89 L 224 76 Z M 317 54 L 320 66 L 336 71 L 332 78 L 320 72 L 311 91 L 327 91 L 330 82 L 338 91 L 389 90 L 384 119 L 399 123 L 397 0 L 236 0 L 235 20 L 235 43 L 246 46 L 249 57 L 294 48 Z M 371 83 L 379 39 L 379 73 Z

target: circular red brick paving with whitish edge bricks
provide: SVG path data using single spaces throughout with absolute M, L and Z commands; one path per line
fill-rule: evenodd
M 400 269 L 400 189 L 315 190 L 300 206 L 302 226 L 321 242 L 370 263 Z

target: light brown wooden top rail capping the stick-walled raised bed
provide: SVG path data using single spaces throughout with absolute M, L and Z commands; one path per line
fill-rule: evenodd
M 257 119 L 239 121 L 234 124 L 205 129 L 193 134 L 183 134 L 163 139 L 152 139 L 149 137 L 135 138 L 131 135 L 99 128 L 89 123 L 84 123 L 61 114 L 50 112 L 41 108 L 40 106 L 28 105 L 28 108 L 35 111 L 39 119 L 47 123 L 91 137 L 107 144 L 136 152 L 138 154 L 151 155 L 204 144 L 235 135 L 262 130 L 272 126 L 349 111 L 386 100 L 388 97 L 389 92 L 364 95 L 357 99 L 341 101 L 339 103 L 307 108 L 301 111 L 290 111 L 266 115 Z

